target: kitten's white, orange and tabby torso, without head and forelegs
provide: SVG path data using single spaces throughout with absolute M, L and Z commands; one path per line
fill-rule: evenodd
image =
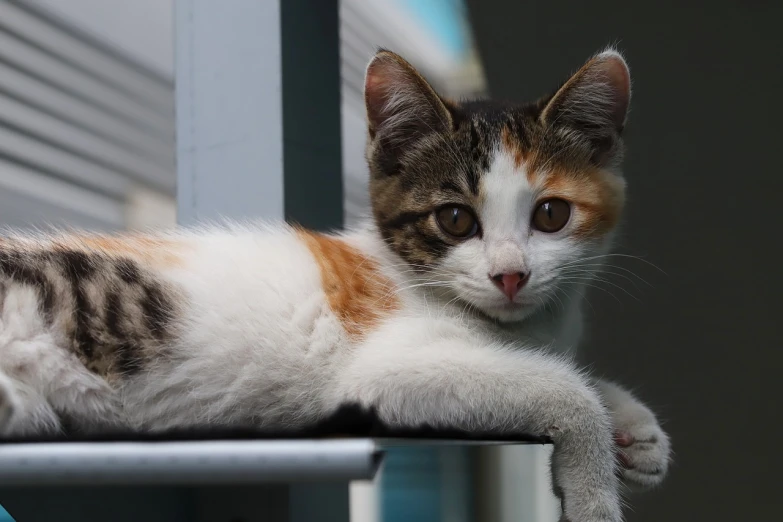
M 372 229 L 11 237 L 1 255 L 0 367 L 14 380 L 29 372 L 50 382 L 35 397 L 40 407 L 29 417 L 21 408 L 4 427 L 11 434 L 57 431 L 63 418 L 77 429 L 305 425 L 346 402 L 328 399 L 332 381 L 375 337 L 423 340 L 442 323 L 457 337 L 556 353 L 573 345 L 568 330 L 579 325 L 577 305 L 568 320 L 547 311 L 524 328 L 502 328 L 458 302 L 443 306 L 399 269 Z M 43 375 L 45 357 L 62 377 Z M 107 411 L 90 401 L 59 404 L 88 389 L 95 409 Z

